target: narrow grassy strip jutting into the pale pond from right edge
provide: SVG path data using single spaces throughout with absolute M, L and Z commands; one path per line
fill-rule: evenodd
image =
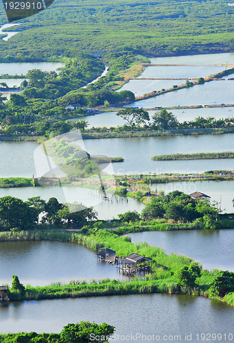
M 153 156 L 153 161 L 176 160 L 213 160 L 218 158 L 234 158 L 234 152 L 199 152 L 196 154 L 168 154 Z

